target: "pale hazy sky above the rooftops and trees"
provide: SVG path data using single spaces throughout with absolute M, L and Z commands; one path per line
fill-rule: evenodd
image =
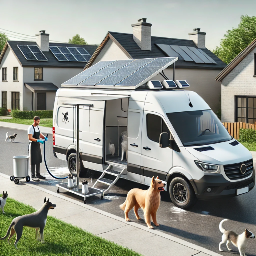
M 6 30 L 29 36 L 46 30 L 50 40 L 68 42 L 79 34 L 88 44 L 100 44 L 108 31 L 132 33 L 131 24 L 147 18 L 151 36 L 189 39 L 193 28 L 201 28 L 210 50 L 241 15 L 256 15 L 255 0 L 0 0 L 0 6 L 0 32 L 10 40 L 22 35 Z

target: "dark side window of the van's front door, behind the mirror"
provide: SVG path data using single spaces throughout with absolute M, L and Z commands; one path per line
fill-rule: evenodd
M 150 140 L 159 142 L 160 133 L 167 132 L 169 138 L 170 131 L 161 116 L 147 114 L 147 133 Z M 170 138 L 172 139 L 172 138 Z

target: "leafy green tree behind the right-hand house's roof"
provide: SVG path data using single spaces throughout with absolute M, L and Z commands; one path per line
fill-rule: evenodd
M 237 28 L 227 31 L 212 52 L 226 64 L 230 63 L 246 46 L 256 38 L 256 17 L 242 15 Z

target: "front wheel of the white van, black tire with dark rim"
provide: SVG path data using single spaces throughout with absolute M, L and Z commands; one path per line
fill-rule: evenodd
M 176 193 L 175 193 L 176 192 Z M 182 209 L 188 209 L 196 203 L 196 195 L 188 180 L 175 177 L 169 186 L 172 203 Z

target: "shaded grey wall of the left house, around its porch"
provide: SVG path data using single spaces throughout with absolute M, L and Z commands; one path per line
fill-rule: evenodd
M 53 83 L 58 88 L 73 76 L 81 73 L 83 68 L 43 68 L 43 81 L 34 81 L 34 67 L 23 68 L 23 98 L 24 110 L 32 110 L 32 92 L 24 86 L 24 83 Z M 55 92 L 46 92 L 46 110 L 52 110 L 54 106 Z M 35 95 L 36 108 L 36 95 Z

